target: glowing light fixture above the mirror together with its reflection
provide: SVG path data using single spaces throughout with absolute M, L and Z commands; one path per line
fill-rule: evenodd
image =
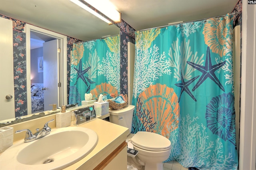
M 121 13 L 108 0 L 70 0 L 108 24 L 121 22 Z

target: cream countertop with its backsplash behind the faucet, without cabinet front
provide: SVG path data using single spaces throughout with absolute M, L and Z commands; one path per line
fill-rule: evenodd
M 30 126 L 29 128 L 34 129 L 35 127 L 41 127 L 45 122 L 49 121 L 50 119 L 55 119 L 55 115 L 51 115 L 50 117 L 46 116 L 36 121 L 27 121 L 26 123 L 28 124 L 15 124 L 12 125 L 12 127 L 14 127 L 14 132 L 19 129 L 24 129 L 25 127 L 28 128 L 28 126 Z M 49 126 L 52 127 L 52 129 L 56 128 L 54 127 L 54 125 L 55 121 L 49 123 Z M 129 134 L 128 128 L 116 125 L 114 123 L 110 123 L 108 121 L 104 121 L 102 119 L 95 119 L 88 123 L 79 125 L 78 127 L 85 127 L 94 130 L 98 135 L 98 142 L 95 148 L 87 156 L 85 156 L 75 164 L 64 168 L 64 170 L 93 170 L 120 144 L 122 144 L 122 142 L 126 140 L 126 137 Z M 13 144 L 20 140 L 24 140 L 24 134 L 14 134 Z

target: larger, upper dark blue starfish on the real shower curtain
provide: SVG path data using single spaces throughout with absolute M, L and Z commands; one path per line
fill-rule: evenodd
M 212 81 L 214 81 L 214 83 L 216 83 L 220 87 L 220 89 L 222 89 L 222 91 L 225 91 L 224 87 L 222 86 L 222 84 L 220 83 L 219 79 L 216 77 L 214 72 L 220 67 L 222 67 L 226 63 L 226 60 L 224 62 L 212 65 L 209 47 L 207 47 L 207 51 L 206 51 L 205 66 L 198 65 L 190 61 L 187 61 L 187 63 L 203 73 L 200 79 L 198 80 L 198 82 L 196 83 L 196 85 L 194 86 L 194 88 L 192 89 L 192 91 L 195 91 L 208 77 L 212 79 Z

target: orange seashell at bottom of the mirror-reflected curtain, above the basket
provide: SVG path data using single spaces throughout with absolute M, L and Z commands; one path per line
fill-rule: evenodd
M 110 95 L 113 93 L 115 96 L 118 96 L 116 87 L 108 83 L 101 83 L 100 85 L 96 85 L 96 87 L 92 89 L 90 93 L 92 93 L 92 99 L 98 99 L 100 94 Z

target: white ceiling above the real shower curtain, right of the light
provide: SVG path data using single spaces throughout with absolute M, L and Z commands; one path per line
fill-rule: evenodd
M 110 0 L 135 30 L 231 13 L 238 0 Z

